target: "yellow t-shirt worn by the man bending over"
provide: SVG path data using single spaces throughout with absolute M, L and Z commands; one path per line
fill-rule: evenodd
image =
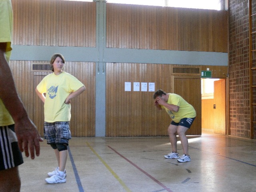
M 169 93 L 169 98 L 167 101 L 168 104 L 179 106 L 178 112 L 170 111 L 168 108 L 161 105 L 162 108 L 166 110 L 168 115 L 172 118 L 172 120 L 176 123 L 180 122 L 183 118 L 194 118 L 196 117 L 196 110 L 192 105 L 190 105 L 184 98 L 181 96 Z

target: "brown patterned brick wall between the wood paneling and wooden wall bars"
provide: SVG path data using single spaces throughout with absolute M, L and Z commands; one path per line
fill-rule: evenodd
M 250 138 L 248 0 L 229 0 L 230 134 Z

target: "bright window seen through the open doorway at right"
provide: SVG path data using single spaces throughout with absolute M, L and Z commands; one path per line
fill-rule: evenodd
M 201 79 L 202 99 L 213 99 L 214 81 L 219 79 Z

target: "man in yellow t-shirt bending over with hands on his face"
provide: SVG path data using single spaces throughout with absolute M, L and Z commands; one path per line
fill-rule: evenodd
M 188 154 L 188 138 L 186 137 L 186 131 L 192 125 L 196 118 L 196 110 L 180 95 L 174 93 L 166 93 L 163 90 L 157 90 L 154 93 L 154 105 L 159 110 L 165 109 L 172 122 L 168 127 L 168 134 L 172 145 L 172 152 L 165 155 L 167 159 L 175 158 L 178 162 L 190 161 Z M 177 151 L 177 136 L 180 138 L 180 142 L 183 148 L 183 155 L 179 156 Z

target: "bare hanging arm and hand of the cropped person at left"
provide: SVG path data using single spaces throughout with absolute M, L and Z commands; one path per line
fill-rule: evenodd
M 5 58 L 6 43 L 0 43 L 0 98 L 15 122 L 15 132 L 20 150 L 32 159 L 40 154 L 40 137 L 36 126 L 28 117 L 16 91 L 10 66 Z

